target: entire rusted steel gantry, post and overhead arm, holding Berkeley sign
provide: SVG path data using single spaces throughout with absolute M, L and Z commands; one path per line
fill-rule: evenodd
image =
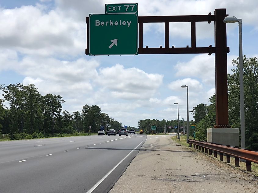
M 228 16 L 226 9 L 215 9 L 214 15 L 188 16 L 139 16 L 139 47 L 138 54 L 215 54 L 215 85 L 216 85 L 216 125 L 214 127 L 229 128 L 227 98 L 227 32 L 223 19 Z M 214 22 L 215 47 L 196 47 L 196 22 Z M 169 47 L 169 23 L 191 22 L 191 47 Z M 89 26 L 89 17 L 86 17 Z M 143 48 L 143 23 L 165 23 L 165 47 Z M 87 48 L 89 55 L 89 27 L 87 27 Z

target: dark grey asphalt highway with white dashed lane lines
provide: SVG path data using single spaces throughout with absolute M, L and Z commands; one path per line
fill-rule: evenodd
M 146 138 L 89 135 L 0 142 L 0 192 L 108 192 Z

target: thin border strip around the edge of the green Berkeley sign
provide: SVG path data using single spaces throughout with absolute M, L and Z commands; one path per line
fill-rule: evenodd
M 134 14 L 136 15 L 136 53 L 135 54 L 91 54 L 90 53 L 90 17 L 92 15 L 118 15 L 117 13 L 109 13 L 109 14 L 104 14 L 104 13 L 97 13 L 97 14 L 89 14 L 89 55 L 91 56 L 122 56 L 122 55 L 137 55 L 138 54 L 138 16 L 136 13 L 119 13 L 120 15 L 123 14 Z

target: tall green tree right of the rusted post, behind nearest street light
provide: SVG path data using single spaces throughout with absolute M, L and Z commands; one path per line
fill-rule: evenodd
M 228 107 L 230 124 L 241 131 L 238 61 L 239 58 L 232 60 L 235 68 L 232 69 L 232 75 L 228 74 Z M 246 148 L 258 150 L 258 59 L 246 58 L 244 55 L 243 70 Z

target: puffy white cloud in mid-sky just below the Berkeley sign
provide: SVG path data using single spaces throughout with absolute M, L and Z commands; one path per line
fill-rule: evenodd
M 151 97 L 162 84 L 163 75 L 148 74 L 138 68 L 124 68 L 120 64 L 100 68 L 98 83 L 123 99 Z

